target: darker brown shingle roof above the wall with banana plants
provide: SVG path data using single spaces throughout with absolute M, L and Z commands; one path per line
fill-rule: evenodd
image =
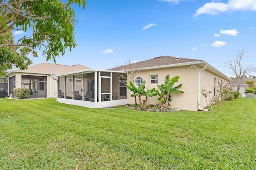
M 138 65 L 140 68 L 145 68 L 145 67 L 155 67 L 155 66 L 163 66 L 163 65 L 170 65 L 170 64 L 188 63 L 193 61 L 202 61 L 202 60 L 188 59 L 188 58 L 182 58 L 182 57 L 180 57 L 180 59 L 176 59 L 176 57 L 161 56 L 161 57 L 155 57 L 153 59 L 148 59 L 145 61 L 140 61 L 134 64 Z M 115 67 L 108 70 L 120 71 L 122 70 L 122 68 Z

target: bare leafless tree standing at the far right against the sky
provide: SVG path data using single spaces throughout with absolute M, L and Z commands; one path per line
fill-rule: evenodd
M 244 49 L 238 51 L 236 55 L 232 55 L 231 57 L 229 57 L 227 62 L 225 63 L 226 65 L 228 65 L 226 67 L 231 69 L 229 73 L 234 75 L 238 80 L 236 89 L 237 91 L 239 91 L 242 85 L 242 78 L 256 71 L 256 68 L 252 67 L 252 65 L 242 65 L 242 59 L 244 58 L 245 52 L 246 51 L 244 51 Z

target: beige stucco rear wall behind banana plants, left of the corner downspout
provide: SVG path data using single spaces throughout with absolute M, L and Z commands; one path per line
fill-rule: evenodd
M 170 102 L 171 107 L 182 110 L 197 110 L 197 69 L 190 66 L 183 67 L 170 67 L 164 69 L 152 69 L 141 71 L 136 74 L 136 77 L 142 77 L 146 81 L 146 90 L 152 88 L 158 88 L 157 85 L 164 84 L 164 79 L 167 75 L 170 75 L 170 79 L 175 76 L 179 76 L 178 83 L 174 84 L 174 87 L 182 83 L 180 91 L 184 91 L 183 94 L 172 94 Z M 150 75 L 158 75 L 158 84 L 150 84 Z M 134 98 L 129 97 L 132 91 L 128 90 L 128 103 L 134 103 Z M 158 96 L 150 97 L 148 103 L 156 104 Z M 144 99 L 144 98 L 143 98 Z

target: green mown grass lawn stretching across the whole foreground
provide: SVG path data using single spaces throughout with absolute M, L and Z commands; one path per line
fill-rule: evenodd
M 0 170 L 256 169 L 256 99 L 210 112 L 0 98 Z

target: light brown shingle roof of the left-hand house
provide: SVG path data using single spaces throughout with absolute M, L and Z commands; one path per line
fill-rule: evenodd
M 40 64 L 30 66 L 28 67 L 28 69 L 24 71 L 37 72 L 37 73 L 62 74 L 62 73 L 69 73 L 69 72 L 84 70 L 84 69 L 90 69 L 90 68 L 80 64 L 70 66 L 70 65 L 52 64 L 52 63 L 40 63 Z

